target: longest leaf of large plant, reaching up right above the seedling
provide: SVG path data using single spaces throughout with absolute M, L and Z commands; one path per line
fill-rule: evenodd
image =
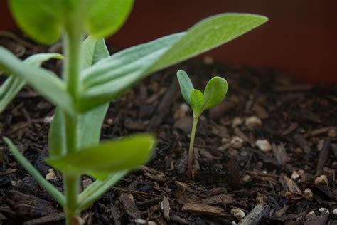
M 114 54 L 83 72 L 85 94 L 77 110 L 117 98 L 149 73 L 220 46 L 266 21 L 266 17 L 254 14 L 220 14 L 200 21 L 186 33 Z

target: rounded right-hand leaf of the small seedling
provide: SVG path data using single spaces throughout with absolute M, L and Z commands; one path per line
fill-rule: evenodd
M 208 81 L 203 92 L 203 109 L 213 108 L 223 101 L 227 93 L 227 81 L 224 78 L 214 77 Z

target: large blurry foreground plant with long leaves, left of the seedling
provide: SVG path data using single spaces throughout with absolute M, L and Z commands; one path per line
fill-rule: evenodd
M 154 149 L 152 135 L 132 135 L 100 143 L 100 130 L 110 100 L 157 70 L 220 46 L 267 21 L 253 14 L 220 14 L 186 32 L 159 38 L 109 56 L 104 37 L 127 19 L 133 0 L 10 0 L 19 26 L 34 40 L 50 44 L 63 37 L 61 78 L 44 68 L 16 58 L 0 47 L 0 70 L 56 105 L 48 135 L 46 162 L 63 175 L 63 195 L 44 179 L 8 138 L 4 140 L 23 167 L 60 205 L 67 224 L 77 224 L 80 211 L 99 199 L 130 169 L 144 164 Z M 85 39 L 85 33 L 90 34 Z M 55 57 L 55 56 L 54 56 Z M 59 57 L 59 56 L 57 56 Z M 6 94 L 6 85 L 1 93 Z M 2 98 L 4 97 L 4 98 Z M 1 94 L 1 101 L 10 100 Z M 82 193 L 80 177 L 96 179 Z

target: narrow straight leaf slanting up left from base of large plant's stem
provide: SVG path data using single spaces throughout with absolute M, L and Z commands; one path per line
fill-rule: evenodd
M 41 176 L 41 174 L 38 172 L 35 167 L 29 162 L 22 154 L 21 152 L 15 147 L 13 142 L 9 140 L 7 137 L 4 137 L 4 141 L 9 146 L 9 150 L 11 150 L 11 153 L 14 155 L 16 160 L 20 162 L 20 164 L 27 170 L 29 174 L 38 182 L 38 184 L 43 187 L 46 192 L 48 192 L 51 197 L 53 197 L 59 204 L 65 205 L 65 197 L 63 194 L 60 193 L 60 191 L 53 186 L 53 184 L 50 184 L 44 177 Z

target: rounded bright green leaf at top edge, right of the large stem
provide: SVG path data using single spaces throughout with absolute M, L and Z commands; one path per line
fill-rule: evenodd
M 133 3 L 133 0 L 94 1 L 87 13 L 88 33 L 99 38 L 115 33 L 127 20 Z

